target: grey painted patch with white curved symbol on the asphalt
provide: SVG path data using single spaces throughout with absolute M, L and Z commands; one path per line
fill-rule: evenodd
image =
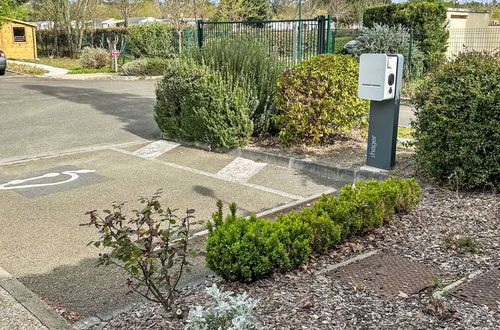
M 14 191 L 27 198 L 36 198 L 109 180 L 97 174 L 96 170 L 65 165 L 13 177 L 0 177 L 0 192 Z

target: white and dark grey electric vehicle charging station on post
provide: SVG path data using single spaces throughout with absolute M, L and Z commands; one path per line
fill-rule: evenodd
M 366 165 L 388 170 L 396 161 L 403 55 L 362 54 L 358 97 L 370 100 Z

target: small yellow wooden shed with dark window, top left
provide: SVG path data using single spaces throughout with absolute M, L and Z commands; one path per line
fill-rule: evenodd
M 0 26 L 0 50 L 8 59 L 37 58 L 36 25 L 7 19 Z

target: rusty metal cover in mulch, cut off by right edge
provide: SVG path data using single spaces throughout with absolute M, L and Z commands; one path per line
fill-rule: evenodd
M 476 305 L 500 311 L 500 269 L 490 270 L 455 290 L 451 295 Z

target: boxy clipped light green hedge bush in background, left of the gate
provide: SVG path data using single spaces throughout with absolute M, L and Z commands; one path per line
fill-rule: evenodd
M 132 25 L 128 28 L 127 45 L 130 54 L 141 57 L 173 57 L 172 29 L 160 22 Z

